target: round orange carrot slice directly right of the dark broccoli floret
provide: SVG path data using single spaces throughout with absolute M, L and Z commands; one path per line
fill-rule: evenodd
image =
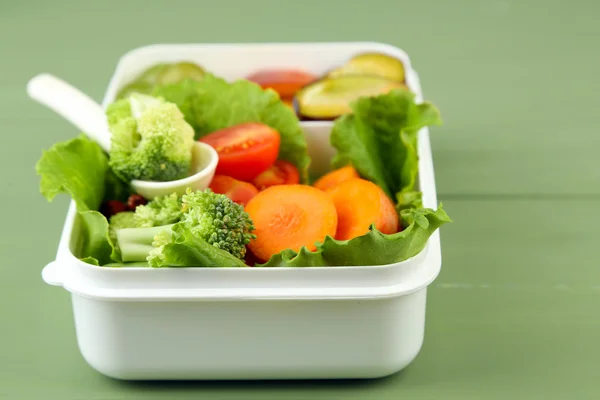
M 256 230 L 248 248 L 261 261 L 285 249 L 310 251 L 335 235 L 337 213 L 327 193 L 308 185 L 271 186 L 246 205 Z

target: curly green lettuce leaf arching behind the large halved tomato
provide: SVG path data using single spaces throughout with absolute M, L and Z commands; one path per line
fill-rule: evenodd
M 177 104 L 196 130 L 196 139 L 244 122 L 269 125 L 281 136 L 279 159 L 294 164 L 302 182 L 308 182 L 310 157 L 306 138 L 298 117 L 275 91 L 263 90 L 246 80 L 229 83 L 207 73 L 201 81 L 158 86 L 153 95 Z

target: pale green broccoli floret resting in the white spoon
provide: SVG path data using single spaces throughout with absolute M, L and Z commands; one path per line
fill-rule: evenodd
M 134 93 L 106 111 L 109 165 L 125 181 L 171 181 L 189 175 L 194 129 L 174 103 Z

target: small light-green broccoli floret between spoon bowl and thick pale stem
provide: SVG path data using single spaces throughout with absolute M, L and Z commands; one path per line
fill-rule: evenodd
M 183 216 L 181 197 L 177 193 L 155 197 L 148 204 L 135 209 L 135 225 L 143 228 L 169 225 L 178 222 Z

